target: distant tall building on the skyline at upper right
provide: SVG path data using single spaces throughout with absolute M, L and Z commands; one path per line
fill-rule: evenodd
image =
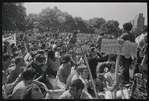
M 130 23 L 133 25 L 133 28 L 138 27 L 139 29 L 142 29 L 144 27 L 144 21 L 145 17 L 143 17 L 143 13 L 139 13 L 135 16 L 134 20 L 130 21 Z

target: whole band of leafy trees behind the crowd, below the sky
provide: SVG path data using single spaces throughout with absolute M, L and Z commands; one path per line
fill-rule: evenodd
M 52 33 L 73 32 L 80 30 L 81 33 L 106 32 L 105 34 L 116 35 L 120 33 L 119 22 L 116 20 L 106 21 L 104 18 L 95 17 L 84 20 L 81 17 L 72 17 L 67 12 L 62 12 L 57 7 L 47 7 L 38 14 L 26 15 L 26 9 L 21 3 L 3 4 L 3 29 L 4 30 L 32 30 L 39 28 L 40 31 Z

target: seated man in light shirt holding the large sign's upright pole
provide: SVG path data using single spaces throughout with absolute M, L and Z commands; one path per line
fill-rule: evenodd
M 108 67 L 109 72 L 107 72 L 104 77 L 106 78 L 106 89 L 105 89 L 105 99 L 128 99 L 128 91 L 122 89 L 123 78 L 120 73 L 118 73 L 118 80 L 115 78 L 115 62 L 112 61 L 111 66 Z M 116 91 L 116 97 L 114 98 L 114 91 Z

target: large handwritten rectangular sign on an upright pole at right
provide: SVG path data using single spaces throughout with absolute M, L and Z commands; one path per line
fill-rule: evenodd
M 124 55 L 126 58 L 130 56 L 137 57 L 137 44 L 130 41 L 102 39 L 100 52 Z

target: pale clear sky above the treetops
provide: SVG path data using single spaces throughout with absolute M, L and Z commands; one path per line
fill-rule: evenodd
M 81 17 L 84 20 L 99 17 L 107 20 L 117 20 L 120 28 L 126 22 L 135 18 L 139 13 L 143 13 L 145 17 L 145 25 L 147 25 L 147 3 L 128 2 L 128 3 L 102 3 L 102 2 L 85 2 L 85 3 L 54 3 L 54 2 L 29 2 L 24 3 L 27 15 L 29 13 L 39 13 L 47 7 L 54 8 L 57 6 L 62 12 L 68 12 L 73 17 Z

